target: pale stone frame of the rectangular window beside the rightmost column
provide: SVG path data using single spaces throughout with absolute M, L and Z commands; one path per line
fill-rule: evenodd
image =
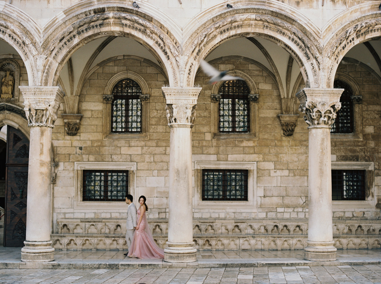
M 353 209 L 353 208 L 374 208 L 376 206 L 375 201 L 375 174 L 373 162 L 352 162 L 352 161 L 335 161 L 335 155 L 331 156 L 331 169 L 356 169 L 365 170 L 367 174 L 366 190 L 368 191 L 365 196 L 365 200 L 332 200 L 333 211 L 341 209 Z

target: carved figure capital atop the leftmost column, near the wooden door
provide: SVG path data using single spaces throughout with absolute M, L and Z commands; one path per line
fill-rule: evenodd
M 19 86 L 28 126 L 54 127 L 64 92 L 59 87 Z

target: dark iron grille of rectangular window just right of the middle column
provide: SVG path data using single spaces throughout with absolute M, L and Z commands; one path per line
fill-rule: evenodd
M 247 169 L 203 169 L 202 200 L 247 201 Z

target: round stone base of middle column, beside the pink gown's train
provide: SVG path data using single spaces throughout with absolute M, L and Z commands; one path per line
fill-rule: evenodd
M 167 247 L 164 248 L 164 261 L 166 262 L 194 262 L 197 260 L 197 249 L 194 247 L 194 242 L 189 243 L 174 243 L 167 242 Z

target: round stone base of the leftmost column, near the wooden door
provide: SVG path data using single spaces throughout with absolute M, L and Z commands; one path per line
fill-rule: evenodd
M 25 247 L 21 248 L 21 261 L 25 262 L 46 262 L 54 260 L 54 248 L 52 242 L 24 242 Z

